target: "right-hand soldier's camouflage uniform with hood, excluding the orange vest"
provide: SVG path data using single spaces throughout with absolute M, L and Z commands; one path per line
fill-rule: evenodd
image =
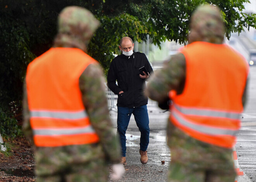
M 223 20 L 217 7 L 204 5 L 195 10 L 190 24 L 189 43 L 205 41 L 222 44 Z M 146 94 L 159 104 L 166 101 L 170 90 L 183 92 L 186 78 L 186 61 L 182 53 L 164 63 L 149 79 Z M 243 104 L 246 100 L 246 90 Z M 167 144 L 171 150 L 168 173 L 170 182 L 234 182 L 235 170 L 232 149 L 221 148 L 191 138 L 176 128 L 170 120 L 167 125 Z

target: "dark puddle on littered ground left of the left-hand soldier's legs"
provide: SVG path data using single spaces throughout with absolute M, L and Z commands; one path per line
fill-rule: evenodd
M 19 177 L 35 177 L 34 174 L 34 167 L 26 167 L 26 168 L 18 168 L 18 169 L 1 169 L 0 171 L 3 171 L 9 175 L 12 176 L 19 176 Z

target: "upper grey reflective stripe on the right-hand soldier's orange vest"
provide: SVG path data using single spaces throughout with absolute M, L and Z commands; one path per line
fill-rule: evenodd
M 225 111 L 215 111 L 211 109 L 194 109 L 180 107 L 174 104 L 174 107 L 186 115 L 196 115 L 196 116 L 207 116 L 207 117 L 225 117 L 228 119 L 240 119 L 241 114 L 235 112 L 225 112 Z

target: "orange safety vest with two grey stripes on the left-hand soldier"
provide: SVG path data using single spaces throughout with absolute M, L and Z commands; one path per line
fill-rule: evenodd
M 51 48 L 28 65 L 26 88 L 38 147 L 99 142 L 82 101 L 79 77 L 97 63 L 77 48 Z

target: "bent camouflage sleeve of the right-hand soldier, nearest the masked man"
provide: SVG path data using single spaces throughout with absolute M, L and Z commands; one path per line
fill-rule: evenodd
M 149 78 L 145 94 L 152 100 L 164 102 L 170 90 L 182 92 L 185 83 L 186 61 L 179 53 L 164 63 L 163 68 L 154 71 Z

